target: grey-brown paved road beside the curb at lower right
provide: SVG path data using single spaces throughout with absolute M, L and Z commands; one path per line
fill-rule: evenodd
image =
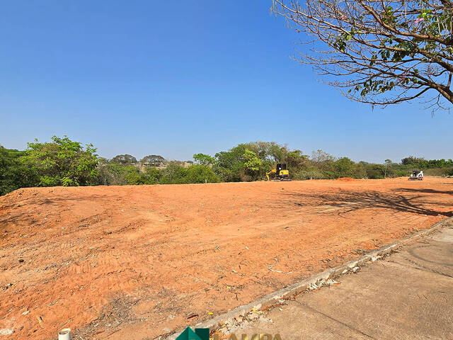
M 280 333 L 282 340 L 453 339 L 453 221 L 338 281 L 234 333 Z

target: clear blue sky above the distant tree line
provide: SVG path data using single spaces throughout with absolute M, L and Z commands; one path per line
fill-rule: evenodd
M 349 102 L 290 60 L 302 37 L 271 3 L 4 2 L 0 144 L 68 135 L 103 157 L 185 160 L 263 140 L 356 161 L 453 157 L 452 115 Z

